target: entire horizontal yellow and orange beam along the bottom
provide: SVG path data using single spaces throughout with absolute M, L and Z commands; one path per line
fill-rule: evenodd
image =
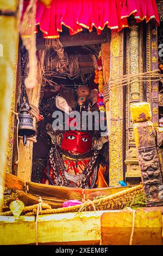
M 136 211 L 132 244 L 161 245 L 162 221 L 161 211 Z M 102 245 L 129 245 L 132 222 L 133 212 L 118 210 L 42 215 L 38 240 L 40 244 L 91 245 L 101 240 Z M 0 245 L 35 242 L 35 217 L 0 216 Z

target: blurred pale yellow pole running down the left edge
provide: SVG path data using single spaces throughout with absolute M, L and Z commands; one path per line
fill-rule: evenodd
M 18 44 L 18 4 L 18 0 L 1 0 L 0 4 L 0 10 L 5 10 L 5 12 L 12 10 L 17 14 L 13 16 L 0 16 L 0 208 L 2 207 L 3 202 L 5 148 L 8 138 L 9 113 L 12 99 L 14 64 L 16 56 L 16 52 L 13 49 L 16 49 L 16 45 Z

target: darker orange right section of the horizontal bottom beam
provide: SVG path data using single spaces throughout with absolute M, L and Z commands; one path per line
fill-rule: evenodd
M 107 212 L 101 218 L 101 245 L 162 245 L 161 211 L 137 210 Z

